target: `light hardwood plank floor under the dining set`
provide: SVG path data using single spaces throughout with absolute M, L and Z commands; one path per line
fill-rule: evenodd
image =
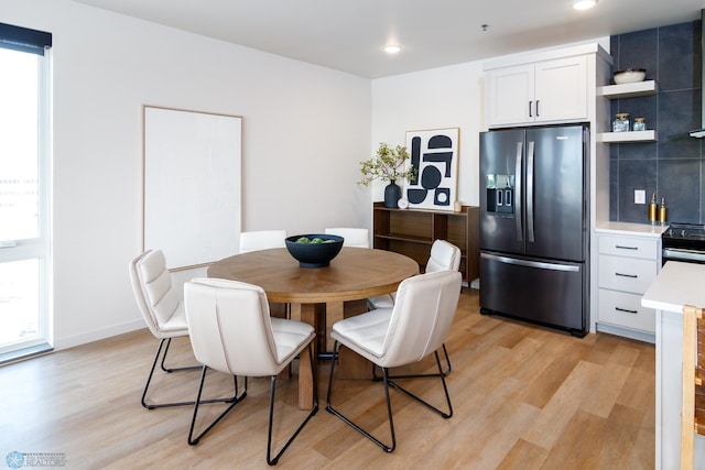
M 392 391 L 397 450 L 384 453 L 325 411 L 324 362 L 321 409 L 278 468 L 653 468 L 652 345 L 604 334 L 577 339 L 482 316 L 477 291 L 464 288 L 446 346 L 453 363 L 451 419 Z M 62 452 L 69 469 L 268 468 L 269 380 L 250 380 L 248 397 L 192 447 L 189 407 L 140 406 L 155 347 L 141 330 L 0 368 L 0 457 Z M 175 361 L 193 361 L 187 341 L 172 349 Z M 227 393 L 231 381 L 212 375 L 212 396 Z M 198 372 L 160 373 L 152 398 L 193 400 L 197 381 Z M 336 406 L 386 439 L 382 385 L 336 384 Z M 410 389 L 436 403 L 442 398 L 435 381 L 413 380 Z M 295 376 L 279 381 L 276 406 L 283 413 L 274 435 L 284 438 L 303 413 L 296 408 Z

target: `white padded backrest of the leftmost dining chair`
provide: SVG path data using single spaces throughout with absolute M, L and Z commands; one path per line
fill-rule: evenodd
M 130 263 L 130 281 L 142 317 L 150 331 L 159 338 L 175 336 L 170 320 L 182 308 L 178 293 L 172 285 L 166 259 L 161 250 L 149 250 Z M 172 330 L 186 332 L 186 325 L 172 325 Z M 172 331 L 174 332 L 174 331 Z

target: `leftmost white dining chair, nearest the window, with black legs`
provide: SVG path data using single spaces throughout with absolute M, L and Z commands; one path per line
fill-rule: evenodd
M 161 404 L 148 403 L 147 401 L 152 376 L 160 358 L 161 369 L 166 373 L 200 369 L 199 365 L 167 368 L 164 364 L 172 339 L 188 336 L 184 304 L 172 284 L 171 273 L 166 270 L 164 253 L 161 250 L 148 250 L 132 260 L 130 262 L 130 282 L 142 318 L 144 318 L 144 323 L 152 335 L 159 339 L 152 369 L 142 392 L 142 406 L 148 409 L 154 409 L 193 405 L 193 401 Z M 232 398 L 228 400 L 231 401 Z M 227 402 L 228 400 L 217 400 L 210 403 Z

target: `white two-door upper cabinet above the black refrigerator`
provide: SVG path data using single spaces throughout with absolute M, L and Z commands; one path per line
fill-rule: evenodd
M 489 128 L 588 119 L 585 55 L 486 73 Z

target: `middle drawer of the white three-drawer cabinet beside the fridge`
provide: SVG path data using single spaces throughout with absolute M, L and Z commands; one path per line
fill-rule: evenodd
M 655 260 L 636 258 L 599 256 L 599 286 L 612 291 L 643 294 L 657 277 L 659 263 Z

